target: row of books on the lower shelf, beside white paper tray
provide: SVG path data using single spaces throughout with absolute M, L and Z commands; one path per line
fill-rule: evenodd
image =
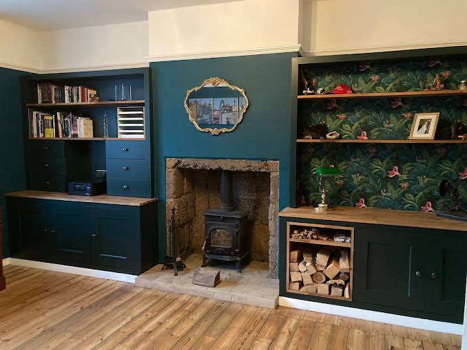
M 72 112 L 33 111 L 29 118 L 30 138 L 92 138 L 92 119 Z

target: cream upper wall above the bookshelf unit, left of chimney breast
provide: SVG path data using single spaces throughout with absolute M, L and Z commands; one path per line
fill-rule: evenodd
M 148 23 L 134 22 L 45 32 L 46 72 L 147 65 Z

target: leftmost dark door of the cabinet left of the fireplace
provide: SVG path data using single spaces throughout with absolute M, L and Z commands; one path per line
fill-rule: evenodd
M 14 257 L 50 261 L 50 214 L 47 201 L 23 199 L 19 219 L 19 252 Z

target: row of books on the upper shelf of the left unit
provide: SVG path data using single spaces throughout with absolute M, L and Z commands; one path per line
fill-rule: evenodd
M 84 86 L 37 83 L 38 103 L 98 102 L 97 91 Z

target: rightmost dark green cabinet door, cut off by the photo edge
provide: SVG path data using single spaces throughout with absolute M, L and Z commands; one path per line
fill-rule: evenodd
M 467 271 L 467 237 L 437 235 L 429 242 L 426 311 L 448 316 L 464 314 Z

